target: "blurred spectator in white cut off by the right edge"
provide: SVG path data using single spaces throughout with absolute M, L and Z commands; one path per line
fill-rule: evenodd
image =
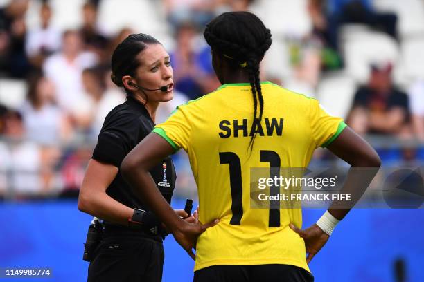
M 424 142 L 424 81 L 415 82 L 409 90 L 411 99 L 412 127 L 416 137 Z

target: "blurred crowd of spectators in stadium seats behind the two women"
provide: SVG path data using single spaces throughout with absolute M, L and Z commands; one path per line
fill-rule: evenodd
M 157 123 L 218 88 L 202 31 L 228 10 L 272 30 L 263 80 L 319 99 L 383 165 L 424 162 L 423 0 L 0 0 L 0 198 L 78 195 L 103 120 L 125 100 L 109 61 L 127 35 L 170 52 L 175 98 Z M 184 152 L 175 162 L 177 193 L 193 193 Z

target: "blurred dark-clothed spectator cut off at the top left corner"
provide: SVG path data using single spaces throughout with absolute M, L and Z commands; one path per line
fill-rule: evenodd
M 0 9 L 0 72 L 13 78 L 24 78 L 29 71 L 25 52 L 26 24 L 24 16 L 28 0 L 10 1 Z

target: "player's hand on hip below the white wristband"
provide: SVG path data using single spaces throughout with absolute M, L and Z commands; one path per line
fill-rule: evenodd
M 301 230 L 290 224 L 290 228 L 299 234 L 305 241 L 306 252 L 308 256 L 306 257 L 306 262 L 309 264 L 312 258 L 321 250 L 324 245 L 326 245 L 328 238 L 328 234 L 321 230 L 318 225 L 314 224 L 311 227 L 308 227 L 304 230 Z

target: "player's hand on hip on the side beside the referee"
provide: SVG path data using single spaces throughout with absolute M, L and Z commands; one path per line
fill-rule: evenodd
M 191 259 L 195 260 L 196 256 L 193 253 L 193 249 L 196 248 L 197 237 L 209 227 L 215 226 L 219 221 L 215 219 L 210 223 L 202 224 L 200 221 L 197 223 L 187 223 L 182 220 L 182 224 L 173 232 L 173 236 L 175 241 L 191 256 Z

